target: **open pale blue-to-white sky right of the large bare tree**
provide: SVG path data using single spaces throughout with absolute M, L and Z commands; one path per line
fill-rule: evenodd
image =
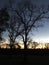
M 45 22 L 44 26 L 33 32 L 33 40 L 41 43 L 49 42 L 49 20 L 45 19 L 43 21 Z

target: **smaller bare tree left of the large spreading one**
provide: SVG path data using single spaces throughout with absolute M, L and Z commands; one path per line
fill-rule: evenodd
M 10 47 L 15 43 L 16 38 L 22 33 L 23 28 L 21 23 L 19 22 L 19 19 L 17 20 L 17 17 L 14 15 L 11 16 L 8 26 L 7 26 L 7 31 L 8 31 L 8 37 L 10 41 Z

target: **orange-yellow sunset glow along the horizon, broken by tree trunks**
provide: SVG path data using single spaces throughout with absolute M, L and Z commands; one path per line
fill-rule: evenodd
M 4 43 L 4 44 L 0 44 L 0 48 L 8 48 L 8 49 L 10 49 L 10 45 L 9 44 L 6 44 L 6 43 Z M 24 49 L 24 44 L 15 44 L 15 48 L 20 48 L 20 49 Z M 33 44 L 29 44 L 29 45 L 27 45 L 27 48 L 28 49 L 44 49 L 44 48 L 48 48 L 49 49 L 49 43 L 48 44 L 38 44 L 36 47 L 35 47 L 35 45 L 33 45 Z

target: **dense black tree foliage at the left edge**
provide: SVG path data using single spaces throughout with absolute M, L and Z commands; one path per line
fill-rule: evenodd
M 0 10 L 0 41 L 2 40 L 2 33 L 6 29 L 7 21 L 9 20 L 9 14 L 6 8 Z

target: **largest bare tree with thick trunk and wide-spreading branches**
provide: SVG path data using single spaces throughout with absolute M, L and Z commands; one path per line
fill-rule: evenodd
M 34 28 L 42 26 L 41 19 L 43 15 L 47 13 L 47 10 L 44 10 L 41 7 L 38 7 L 31 3 L 29 0 L 23 0 L 18 4 L 17 9 L 15 10 L 17 16 L 19 17 L 20 22 L 23 25 L 23 33 L 21 34 L 24 48 L 27 49 L 27 40 L 28 35 Z

